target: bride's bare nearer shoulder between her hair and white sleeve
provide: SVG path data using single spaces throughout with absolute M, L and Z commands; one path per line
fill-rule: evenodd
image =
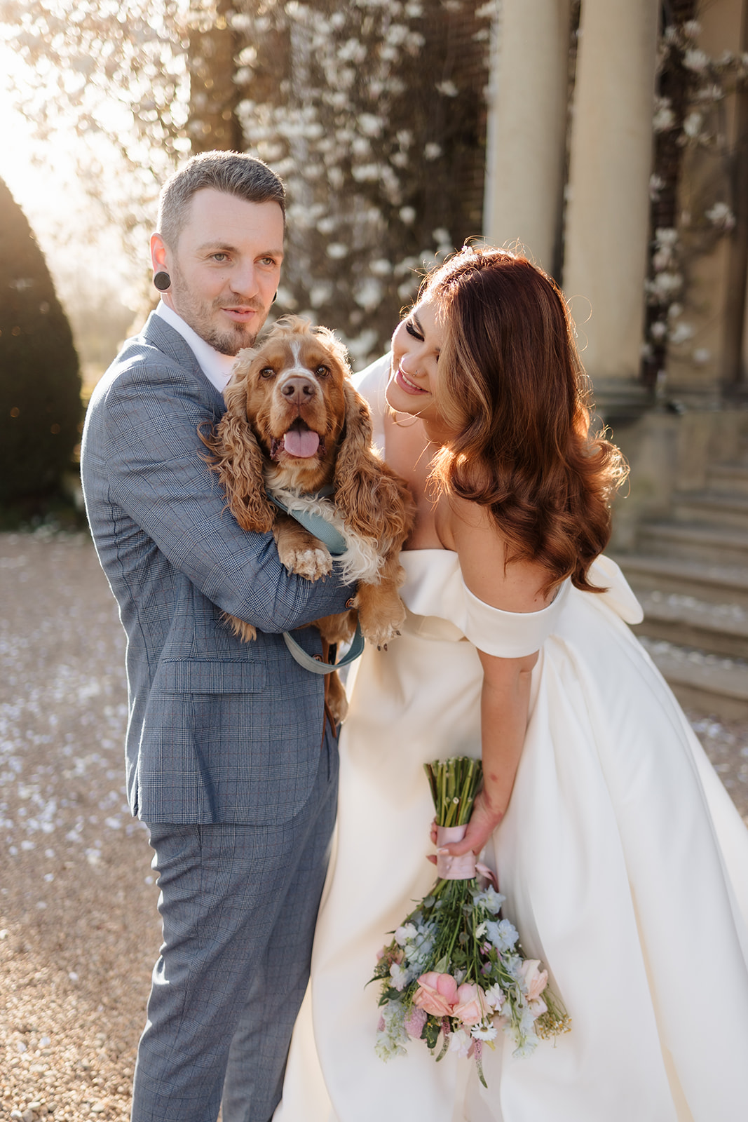
M 440 504 L 444 512 L 440 536 L 460 559 L 462 579 L 484 604 L 504 611 L 538 611 L 548 573 L 536 561 L 506 563 L 507 542 L 488 507 L 455 495 Z

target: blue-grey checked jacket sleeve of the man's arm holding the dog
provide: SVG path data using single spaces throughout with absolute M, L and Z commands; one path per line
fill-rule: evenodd
M 215 416 L 194 375 L 141 352 L 93 407 L 110 507 L 219 608 L 270 633 L 344 610 L 350 587 L 335 574 L 312 582 L 289 573 L 273 535 L 244 532 L 225 508 L 197 432 Z M 120 531 L 118 548 L 126 536 Z

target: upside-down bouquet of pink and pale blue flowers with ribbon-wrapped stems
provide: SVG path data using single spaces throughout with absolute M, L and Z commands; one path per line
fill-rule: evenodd
M 437 844 L 464 836 L 480 788 L 479 760 L 460 756 L 425 764 L 436 808 Z M 538 1038 L 569 1031 L 571 1020 L 551 993 L 547 972 L 525 958 L 519 936 L 500 916 L 505 898 L 492 873 L 474 857 L 440 856 L 438 880 L 405 918 L 378 956 L 381 1017 L 376 1050 L 381 1059 L 404 1056 L 410 1039 L 436 1052 L 474 1058 L 480 1080 L 484 1043 L 499 1029 L 516 1043 L 515 1056 L 532 1052 Z M 477 875 L 478 874 L 478 875 Z M 492 883 L 491 883 L 492 882 Z

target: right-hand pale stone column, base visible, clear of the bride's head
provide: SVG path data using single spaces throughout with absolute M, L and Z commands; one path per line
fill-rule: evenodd
M 657 0 L 584 0 L 563 286 L 603 414 L 636 412 L 648 237 Z

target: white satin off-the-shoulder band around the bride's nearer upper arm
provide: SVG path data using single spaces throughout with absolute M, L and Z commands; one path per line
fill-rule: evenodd
M 461 626 L 465 637 L 484 654 L 493 654 L 497 659 L 523 659 L 539 651 L 552 634 L 569 595 L 570 581 L 564 581 L 553 603 L 539 611 L 502 611 L 479 600 L 467 586 L 463 588 Z

